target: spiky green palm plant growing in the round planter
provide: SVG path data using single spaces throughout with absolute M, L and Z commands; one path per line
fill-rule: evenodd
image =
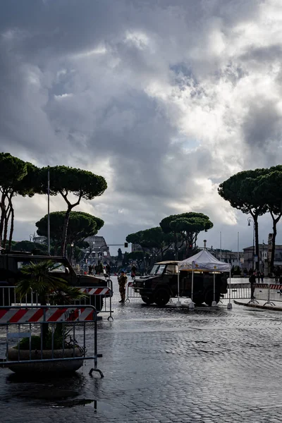
M 21 272 L 23 279 L 21 279 L 16 286 L 16 293 L 20 298 L 30 293 L 38 295 L 38 299 L 41 305 L 66 305 L 70 304 L 75 300 L 85 298 L 85 294 L 82 294 L 79 288 L 68 286 L 65 279 L 60 278 L 52 274 L 52 271 L 56 269 L 60 264 L 54 264 L 51 260 L 42 262 L 30 262 L 26 266 L 23 266 Z M 63 324 L 56 324 L 56 334 L 59 336 L 63 333 Z M 48 323 L 42 324 L 42 343 L 45 347 L 47 338 L 49 335 Z

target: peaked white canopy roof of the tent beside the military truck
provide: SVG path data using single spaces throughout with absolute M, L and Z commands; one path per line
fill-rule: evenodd
M 231 271 L 231 264 L 219 262 L 210 252 L 207 250 L 201 250 L 197 254 L 178 262 L 179 270 L 190 270 L 190 271 Z

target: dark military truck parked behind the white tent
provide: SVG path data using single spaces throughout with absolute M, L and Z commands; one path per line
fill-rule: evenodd
M 178 296 L 178 262 L 159 262 L 154 264 L 150 274 L 135 279 L 135 293 L 140 293 L 146 304 L 154 302 L 164 306 L 170 298 Z M 180 297 L 190 298 L 192 293 L 192 272 L 180 271 Z M 227 293 L 227 274 L 215 274 L 215 301 Z M 205 302 L 212 305 L 214 300 L 214 274 L 209 272 L 194 272 L 193 302 L 201 305 Z

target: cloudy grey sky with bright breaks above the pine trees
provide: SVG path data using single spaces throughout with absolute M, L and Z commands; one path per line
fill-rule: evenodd
M 281 0 L 1 0 L 1 150 L 103 175 L 78 210 L 104 219 L 108 243 L 195 211 L 214 222 L 200 245 L 221 232 L 236 250 L 238 231 L 252 245 L 217 187 L 281 163 L 281 27 Z M 14 238 L 46 212 L 17 198 Z M 265 216 L 261 241 L 270 231 Z

